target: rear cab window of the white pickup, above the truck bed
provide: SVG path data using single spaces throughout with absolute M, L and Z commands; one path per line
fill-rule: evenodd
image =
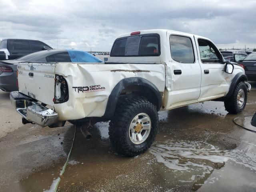
M 141 34 L 115 40 L 111 57 L 160 56 L 160 36 Z

